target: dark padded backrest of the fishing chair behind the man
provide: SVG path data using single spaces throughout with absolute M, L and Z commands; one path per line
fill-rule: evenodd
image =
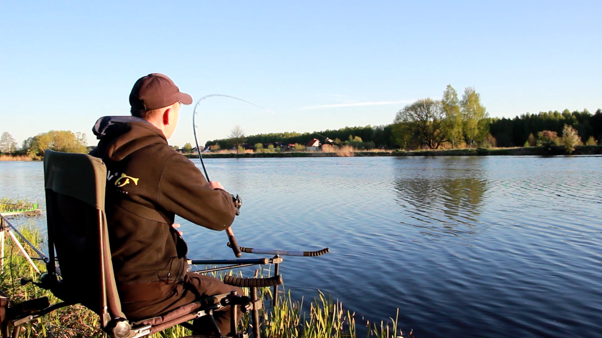
M 113 274 L 105 217 L 107 168 L 86 154 L 44 152 L 48 217 L 48 272 L 62 277 L 51 289 L 58 298 L 81 303 L 101 317 L 125 318 Z M 53 250 L 54 249 L 54 250 Z

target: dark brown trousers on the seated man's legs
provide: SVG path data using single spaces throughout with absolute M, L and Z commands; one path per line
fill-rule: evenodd
M 178 307 L 190 304 L 201 297 L 229 293 L 232 290 L 236 290 L 239 295 L 244 294 L 242 289 L 226 285 L 217 278 L 188 272 L 184 277 L 184 281 L 176 284 L 176 287 L 166 297 L 155 300 L 122 303 L 122 311 L 131 321 L 139 321 L 163 315 L 164 313 L 178 309 Z M 241 312 L 238 313 L 239 322 L 242 317 L 241 314 Z M 216 319 L 217 326 L 224 336 L 230 332 L 230 315 L 229 308 L 213 313 L 213 318 Z M 217 336 L 217 332 L 214 330 L 214 325 L 211 323 L 209 316 L 196 319 L 193 325 L 194 331 L 197 334 Z

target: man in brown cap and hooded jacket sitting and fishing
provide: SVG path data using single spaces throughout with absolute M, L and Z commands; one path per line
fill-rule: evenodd
M 131 116 L 101 117 L 90 155 L 107 166 L 106 212 L 113 270 L 123 313 L 131 321 L 163 315 L 199 297 L 241 289 L 187 273 L 187 245 L 175 215 L 211 230 L 234 221 L 235 205 L 219 182 L 207 182 L 184 155 L 167 144 L 182 104 L 192 103 L 173 81 L 153 73 L 135 82 Z M 222 334 L 230 312 L 215 315 Z M 241 318 L 239 315 L 238 318 Z M 209 316 L 194 322 L 199 334 L 216 335 Z

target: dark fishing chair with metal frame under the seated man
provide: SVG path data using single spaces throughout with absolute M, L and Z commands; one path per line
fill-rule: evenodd
M 23 278 L 22 284 L 31 282 L 49 289 L 63 302 L 49 306 L 48 298 L 43 297 L 8 309 L 12 313 L 4 316 L 2 337 L 11 337 L 8 322 L 13 326 L 12 337 L 17 338 L 21 325 L 73 304 L 82 304 L 93 310 L 100 318 L 102 330 L 111 338 L 144 337 L 178 324 L 193 329 L 188 321 L 202 316 L 210 316 L 210 322 L 219 333 L 213 312 L 227 306 L 232 312 L 230 337 L 245 336 L 236 328 L 239 307 L 252 311 L 253 333 L 255 338 L 259 337 L 257 310 L 261 308 L 262 301 L 257 298 L 256 287 L 282 284 L 281 275 L 271 278 L 226 276 L 226 284 L 250 287 L 250 297 L 236 292 L 213 295 L 155 318 L 128 321 L 121 310 L 111 263 L 105 218 L 107 170 L 104 163 L 90 155 L 46 150 L 44 170 L 49 247 L 49 257 L 45 261 L 48 272 L 42 274 L 39 283 Z M 55 265 L 57 260 L 58 266 Z M 238 262 L 228 260 L 230 263 L 233 261 Z M 263 262 L 267 263 L 267 259 Z M 0 304 L 3 299 L 0 295 Z

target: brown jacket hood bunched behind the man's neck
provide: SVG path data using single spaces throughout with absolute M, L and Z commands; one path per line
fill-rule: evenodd
M 93 156 L 120 161 L 125 156 L 152 144 L 167 144 L 160 129 L 134 116 L 105 116 L 99 118 L 92 132 L 98 138 Z

